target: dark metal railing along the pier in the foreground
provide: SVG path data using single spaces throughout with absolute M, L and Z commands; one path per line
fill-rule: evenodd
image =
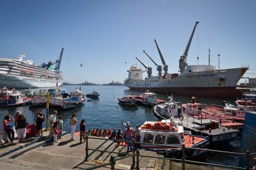
M 108 163 L 105 164 L 100 164 L 97 166 L 92 166 L 92 167 L 88 167 L 85 168 L 85 170 L 88 169 L 97 169 L 100 167 L 104 167 L 104 166 L 111 166 L 111 170 L 115 169 L 115 163 L 118 160 L 122 160 L 122 159 L 126 159 L 128 157 L 132 157 L 132 164 L 131 164 L 131 169 L 140 169 L 140 159 L 139 157 L 148 157 L 148 158 L 154 158 L 154 159 L 163 159 L 163 160 L 172 160 L 175 162 L 181 162 L 182 163 L 182 170 L 185 170 L 185 164 L 186 163 L 191 163 L 191 164 L 197 164 L 197 165 L 202 165 L 202 166 L 214 166 L 214 167 L 224 167 L 224 168 L 233 168 L 233 169 L 246 169 L 249 170 L 250 169 L 250 160 L 252 159 L 252 157 L 256 156 L 256 153 L 250 153 L 250 152 L 246 152 L 246 153 L 237 153 L 237 152 L 226 152 L 226 151 L 219 151 L 219 150 L 209 150 L 209 149 L 203 149 L 203 148 L 189 148 L 192 150 L 196 150 L 196 151 L 207 151 L 207 152 L 214 152 L 214 153 L 224 153 L 224 154 L 229 154 L 229 155 L 243 155 L 246 158 L 246 166 L 245 167 L 236 167 L 236 166 L 225 166 L 225 165 L 221 165 L 221 164 L 212 164 L 212 163 L 207 163 L 207 162 L 197 162 L 197 161 L 193 161 L 193 160 L 187 160 L 185 159 L 185 144 L 183 143 L 182 146 L 172 146 L 172 145 L 158 145 L 158 144 L 152 144 L 152 143 L 139 143 L 139 142 L 135 142 L 134 140 L 132 141 L 125 141 L 125 140 L 118 140 L 118 139 L 108 139 L 108 138 L 98 138 L 98 137 L 93 137 L 93 136 L 89 136 L 86 134 L 86 147 L 85 147 L 85 161 L 90 160 L 88 151 L 92 150 L 92 151 L 98 151 L 98 152 L 106 152 L 106 153 L 120 153 L 120 152 L 108 152 L 105 150 L 96 150 L 96 149 L 92 149 L 92 148 L 88 148 L 88 142 L 89 139 L 98 139 L 98 140 L 107 140 L 107 141 L 116 141 L 116 142 L 132 142 L 132 146 L 133 146 L 133 150 L 132 150 L 132 154 L 126 153 L 126 156 L 124 157 L 119 157 L 116 158 L 114 155 L 111 155 L 111 158 L 109 159 Z M 136 145 L 152 145 L 152 146 L 166 146 L 166 148 L 168 147 L 175 147 L 175 148 L 181 148 L 182 149 L 182 157 L 181 159 L 177 159 L 177 158 L 167 158 L 167 157 L 153 157 L 153 156 L 148 156 L 148 155 L 140 155 L 140 151 L 138 150 L 138 148 L 136 149 Z M 135 161 L 135 157 L 136 157 L 136 161 Z M 135 166 L 135 162 L 136 162 L 136 166 Z

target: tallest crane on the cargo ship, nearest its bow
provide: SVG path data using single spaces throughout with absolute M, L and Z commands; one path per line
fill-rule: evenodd
M 188 50 L 189 50 L 191 41 L 192 41 L 192 39 L 193 39 L 193 36 L 194 36 L 194 33 L 195 33 L 195 29 L 196 29 L 196 25 L 197 25 L 197 24 L 199 24 L 198 21 L 196 22 L 196 24 L 195 24 L 195 26 L 194 26 L 194 29 L 193 29 L 193 31 L 192 31 L 192 33 L 191 33 L 191 36 L 190 36 L 190 38 L 189 38 L 189 41 L 188 41 L 188 45 L 186 46 L 183 55 L 180 56 L 180 59 L 179 59 L 180 73 L 182 73 L 182 71 L 185 70 L 185 67 L 188 67 L 188 63 L 187 63 Z

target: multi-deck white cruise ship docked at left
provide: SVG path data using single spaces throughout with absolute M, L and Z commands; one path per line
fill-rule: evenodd
M 64 48 L 61 49 L 60 58 L 56 62 L 48 62 L 37 66 L 33 60 L 23 60 L 24 53 L 19 59 L 0 58 L 0 87 L 10 89 L 60 87 L 63 79 L 60 74 L 60 64 Z M 55 64 L 55 67 L 53 65 Z

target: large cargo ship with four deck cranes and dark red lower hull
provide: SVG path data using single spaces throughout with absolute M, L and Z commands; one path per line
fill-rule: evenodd
M 207 65 L 190 65 L 186 63 L 188 57 L 188 50 L 191 44 L 193 34 L 196 29 L 196 22 L 193 32 L 189 38 L 188 45 L 184 54 L 179 59 L 179 73 L 168 73 L 168 66 L 166 65 L 163 55 L 154 39 L 159 56 L 163 63 L 164 73 L 162 74 L 162 66 L 157 64 L 144 50 L 143 52 L 156 65 L 158 76 L 152 76 L 152 67 L 147 66 L 144 62 L 140 63 L 146 70 L 141 69 L 135 65 L 127 70 L 128 78 L 125 78 L 124 85 L 130 90 L 143 91 L 150 90 L 151 92 L 163 93 L 167 95 L 183 95 L 183 96 L 206 96 L 206 97 L 237 97 L 241 96 L 241 90 L 236 89 L 237 82 L 249 69 L 248 67 L 237 67 L 231 69 L 216 69 L 210 62 L 209 49 L 209 63 Z M 148 77 L 143 78 L 143 73 L 147 71 Z

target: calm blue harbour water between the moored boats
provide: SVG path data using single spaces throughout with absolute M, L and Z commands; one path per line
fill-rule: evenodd
M 61 87 L 62 89 L 67 89 L 67 93 L 70 93 L 74 89 L 78 89 L 79 86 L 76 85 L 66 85 Z M 96 129 L 96 128 L 111 128 L 122 129 L 121 119 L 125 122 L 130 122 L 131 127 L 135 127 L 136 124 L 143 124 L 145 121 L 157 120 L 154 116 L 152 108 L 147 108 L 145 106 L 122 106 L 118 104 L 118 97 L 122 97 L 126 94 L 139 95 L 141 92 L 134 92 L 129 90 L 125 86 L 103 86 L 103 85 L 94 85 L 94 86 L 81 86 L 84 94 L 92 92 L 93 89 L 96 89 L 100 97 L 99 99 L 92 99 L 92 101 L 85 101 L 83 105 L 74 108 L 73 110 L 62 111 L 58 110 L 58 115 L 63 115 L 63 120 L 65 124 L 65 131 L 70 132 L 70 126 L 68 121 L 72 113 L 76 113 L 77 120 L 79 122 L 82 118 L 86 120 L 86 130 Z M 34 90 L 36 91 L 36 90 Z M 169 100 L 168 96 L 171 94 L 159 94 L 157 97 L 159 99 Z M 86 100 L 89 98 L 86 98 Z M 187 103 L 191 101 L 191 97 L 184 96 L 173 96 L 175 101 L 180 101 L 182 103 Z M 211 99 L 211 98 L 198 98 L 196 99 L 198 103 L 205 104 L 222 104 L 223 101 L 230 101 L 230 99 Z M 230 101 L 233 102 L 233 101 Z M 117 107 L 117 108 L 116 108 Z M 21 111 L 27 118 L 27 122 L 32 124 L 34 121 L 34 115 L 37 108 L 29 108 L 29 106 L 20 106 L 15 108 L 0 108 L 0 120 L 3 120 L 4 115 L 12 114 L 15 115 L 17 111 Z M 51 115 L 54 108 L 49 108 L 49 115 Z M 42 107 L 42 113 L 46 115 L 45 107 Z M 119 112 L 119 113 L 118 113 Z M 44 122 L 45 127 L 45 122 Z M 79 126 L 77 125 L 77 129 Z M 1 125 L 0 129 L 3 129 Z M 218 146 L 218 150 L 226 150 L 230 152 L 239 152 L 240 141 L 237 138 L 235 141 L 228 143 L 227 145 Z M 208 162 L 211 163 L 223 163 L 230 166 L 236 166 L 237 157 L 220 155 L 216 153 L 209 153 Z

